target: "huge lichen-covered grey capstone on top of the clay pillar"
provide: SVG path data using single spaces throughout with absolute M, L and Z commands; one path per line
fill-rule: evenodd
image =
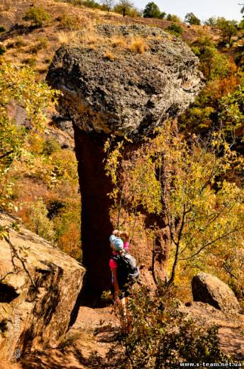
M 159 28 L 103 25 L 96 35 L 94 48 L 57 50 L 47 76 L 64 94 L 63 113 L 83 131 L 145 135 L 181 114 L 203 87 L 192 50 Z M 114 48 L 115 36 L 140 38 L 145 51 Z

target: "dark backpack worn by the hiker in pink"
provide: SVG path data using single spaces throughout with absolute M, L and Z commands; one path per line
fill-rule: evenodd
M 129 253 L 112 255 L 112 258 L 118 264 L 118 287 L 123 289 L 123 287 L 126 287 L 125 285 L 128 285 L 128 287 L 133 285 L 140 275 L 135 258 Z

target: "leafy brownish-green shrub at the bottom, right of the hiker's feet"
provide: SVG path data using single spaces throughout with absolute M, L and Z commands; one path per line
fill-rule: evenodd
M 107 357 L 117 368 L 179 368 L 180 363 L 223 363 L 218 327 L 204 327 L 179 312 L 172 287 L 161 286 L 155 295 L 141 287 L 129 302 L 133 331 L 122 338 L 117 356 Z M 99 363 L 101 365 L 101 363 Z M 104 368 L 111 368 L 106 363 Z M 102 368 L 100 366 L 100 368 Z

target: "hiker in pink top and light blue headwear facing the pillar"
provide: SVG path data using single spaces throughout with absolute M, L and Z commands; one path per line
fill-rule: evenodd
M 120 237 L 123 238 L 124 242 Z M 113 255 L 109 260 L 109 267 L 112 272 L 113 299 L 120 312 L 122 333 L 131 333 L 133 327 L 128 312 L 128 296 L 139 271 L 135 259 L 128 254 L 128 233 L 115 229 L 109 237 L 109 241 L 113 250 Z

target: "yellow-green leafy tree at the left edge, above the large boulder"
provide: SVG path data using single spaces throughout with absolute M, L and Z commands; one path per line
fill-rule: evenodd
M 11 189 L 13 182 L 9 172 L 16 161 L 21 160 L 28 137 L 45 126 L 45 109 L 53 106 L 55 92 L 45 83 L 35 82 L 35 75 L 28 67 L 0 66 L 0 210 L 11 210 Z M 18 126 L 9 117 L 10 101 L 21 104 L 30 127 Z M 54 99 L 55 101 L 55 99 Z

